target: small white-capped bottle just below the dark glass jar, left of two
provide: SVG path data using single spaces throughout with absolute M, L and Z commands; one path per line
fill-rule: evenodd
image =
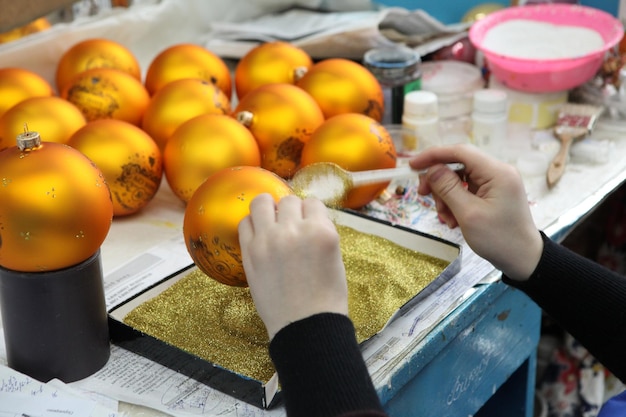
M 404 96 L 402 144 L 415 152 L 439 145 L 439 105 L 431 91 L 412 91 Z

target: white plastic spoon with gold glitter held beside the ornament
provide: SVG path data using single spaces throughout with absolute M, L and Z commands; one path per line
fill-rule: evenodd
M 452 163 L 448 164 L 448 168 L 460 171 L 465 166 L 461 163 Z M 416 170 L 408 165 L 369 171 L 347 171 L 332 162 L 318 162 L 300 168 L 291 179 L 291 187 L 302 198 L 315 197 L 328 206 L 337 207 L 353 188 L 417 177 L 424 173 L 425 169 Z

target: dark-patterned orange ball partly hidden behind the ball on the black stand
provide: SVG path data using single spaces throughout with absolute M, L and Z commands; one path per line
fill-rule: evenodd
M 68 145 L 86 155 L 102 171 L 111 191 L 114 216 L 140 211 L 161 185 L 161 151 L 135 125 L 115 119 L 95 120 L 74 133 Z

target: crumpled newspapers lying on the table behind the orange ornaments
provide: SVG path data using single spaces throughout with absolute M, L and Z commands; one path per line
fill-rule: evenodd
M 468 24 L 444 25 L 421 9 L 322 12 L 295 8 L 240 22 L 213 25 L 206 46 L 240 58 L 260 42 L 283 40 L 313 58 L 361 59 L 372 48 L 405 44 L 426 55 L 466 36 Z

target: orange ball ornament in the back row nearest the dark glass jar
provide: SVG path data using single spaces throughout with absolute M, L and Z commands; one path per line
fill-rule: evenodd
M 329 58 L 313 65 L 297 85 L 317 101 L 326 118 L 361 113 L 377 122 L 384 113 L 383 90 L 363 65 L 344 58 Z

